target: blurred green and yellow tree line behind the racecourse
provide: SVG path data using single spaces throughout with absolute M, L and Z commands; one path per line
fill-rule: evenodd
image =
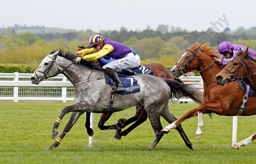
M 0 63 L 39 65 L 41 60 L 54 49 L 66 49 L 64 43 L 75 52 L 79 45 L 89 45 L 89 38 L 95 32 L 91 30 L 68 32 L 63 34 L 14 34 L 0 35 Z M 215 33 L 214 37 L 208 32 L 165 32 L 150 29 L 138 31 L 100 31 L 103 38 L 123 43 L 135 50 L 140 56 L 141 64 L 157 62 L 172 67 L 180 56 L 199 40 L 201 44 L 211 42 L 217 49 L 222 41 L 232 44 L 242 44 L 256 50 L 256 35 Z M 204 39 L 201 39 L 205 37 Z

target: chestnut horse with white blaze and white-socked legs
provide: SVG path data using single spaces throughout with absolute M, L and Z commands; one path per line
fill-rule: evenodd
M 235 116 L 239 112 L 241 102 L 244 98 L 244 91 L 238 86 L 238 82 L 231 82 L 224 86 L 216 84 L 215 75 L 217 75 L 222 64 L 215 62 L 214 57 L 219 58 L 213 51 L 214 47 L 208 47 L 210 43 L 204 45 L 195 44 L 188 49 L 180 58 L 179 62 L 171 70 L 175 77 L 179 77 L 182 73 L 197 70 L 204 82 L 204 102 L 197 108 L 187 112 L 180 119 L 166 126 L 162 132 L 168 133 L 170 129 L 174 129 L 181 122 L 198 115 L 198 127 L 196 131 L 196 139 L 202 137 L 203 117 L 207 113 L 216 113 L 217 115 Z M 228 92 L 227 92 L 228 91 Z M 241 116 L 249 116 L 256 114 L 256 97 L 249 96 L 246 107 Z M 255 139 L 255 135 L 250 137 Z M 239 149 L 239 146 L 245 146 L 250 141 L 248 139 L 233 144 L 231 147 Z

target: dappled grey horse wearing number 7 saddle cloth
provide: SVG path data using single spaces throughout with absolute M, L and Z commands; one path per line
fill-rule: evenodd
M 38 69 L 30 77 L 33 84 L 39 84 L 44 79 L 62 73 L 75 87 L 75 104 L 67 106 L 62 110 L 54 123 L 52 139 L 58 135 L 57 129 L 63 117 L 67 113 L 72 112 L 69 122 L 58 139 L 46 151 L 59 146 L 66 133 L 70 131 L 84 112 L 105 113 L 108 107 L 111 85 L 105 82 L 105 70 L 99 68 L 92 61 L 82 61 L 81 64 L 76 65 L 74 64 L 76 57 L 77 55 L 73 53 L 67 52 L 63 54 L 61 50 L 54 50 L 42 60 Z M 83 73 L 81 73 L 81 70 L 83 70 Z M 112 112 L 125 110 L 127 107 L 135 106 L 138 103 L 143 104 L 155 132 L 155 139 L 148 148 L 148 150 L 153 150 L 163 136 L 161 133 L 160 116 L 169 123 L 176 120 L 169 112 L 168 102 L 169 99 L 173 99 L 171 95 L 173 94 L 176 99 L 184 95 L 192 96 L 198 88 L 191 88 L 192 84 L 179 83 L 171 79 L 163 80 L 162 78 L 147 74 L 137 75 L 136 79 L 140 85 L 140 92 L 126 95 L 115 93 L 116 101 L 113 104 Z M 113 129 L 108 130 L 113 132 Z M 181 126 L 177 130 L 185 134 Z M 194 149 L 190 141 L 186 142 L 186 144 L 190 145 L 190 149 Z

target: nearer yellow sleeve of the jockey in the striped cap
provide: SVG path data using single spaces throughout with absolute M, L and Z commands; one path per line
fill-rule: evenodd
M 112 52 L 114 50 L 114 47 L 110 44 L 106 44 L 102 47 L 102 49 L 99 52 L 83 56 L 83 60 L 91 61 L 91 60 L 97 60 L 108 53 Z M 80 51 L 79 51 L 80 52 Z

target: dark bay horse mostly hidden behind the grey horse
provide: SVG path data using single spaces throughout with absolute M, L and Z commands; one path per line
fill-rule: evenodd
M 88 49 L 89 47 L 84 47 L 84 46 L 79 46 L 77 51 L 81 51 L 83 49 Z M 95 61 L 96 63 L 98 63 L 98 65 L 100 67 L 102 67 L 104 64 L 101 63 L 99 60 Z M 148 64 L 144 64 L 142 65 L 149 67 L 153 72 L 153 76 L 156 77 L 160 77 L 160 78 L 165 78 L 165 79 L 172 79 L 172 80 L 176 80 L 180 83 L 183 83 L 182 80 L 178 79 L 178 78 L 174 78 L 171 74 L 171 72 L 165 68 L 165 66 L 163 66 L 160 63 L 148 63 Z M 195 101 L 196 103 L 202 103 L 202 98 L 201 95 L 202 93 L 197 92 L 195 94 L 193 94 L 192 96 L 190 96 L 190 99 L 192 99 L 193 101 Z M 115 139 L 121 139 L 122 136 L 126 136 L 130 131 L 132 131 L 134 128 L 136 128 L 137 126 L 139 126 L 141 123 L 145 122 L 148 118 L 147 116 L 147 112 L 144 110 L 143 105 L 138 104 L 135 106 L 136 107 L 136 114 L 129 118 L 129 119 L 119 119 L 117 121 L 116 124 L 114 125 L 109 125 L 109 126 L 104 126 L 105 122 L 110 118 L 110 116 L 113 114 L 113 112 L 108 112 L 108 113 L 102 113 L 101 114 L 101 118 L 98 122 L 98 127 L 101 130 L 107 130 L 110 127 L 114 127 L 117 132 L 115 134 L 115 136 L 113 136 L 113 138 Z M 136 121 L 136 122 L 135 122 Z M 127 125 L 129 125 L 130 123 L 135 122 L 134 124 L 132 124 L 129 128 L 127 128 L 126 130 L 124 130 L 122 132 L 121 129 L 123 129 L 124 127 L 126 127 Z M 89 136 L 93 136 L 93 130 L 90 128 L 90 113 L 86 113 L 86 123 L 85 123 L 85 127 L 87 129 L 87 133 Z M 179 131 L 180 132 L 180 131 Z M 182 133 L 180 133 L 180 135 L 182 136 L 183 140 L 188 140 L 187 136 L 184 136 Z M 186 143 L 186 142 L 185 142 Z M 188 147 L 190 147 L 190 145 L 187 145 Z

